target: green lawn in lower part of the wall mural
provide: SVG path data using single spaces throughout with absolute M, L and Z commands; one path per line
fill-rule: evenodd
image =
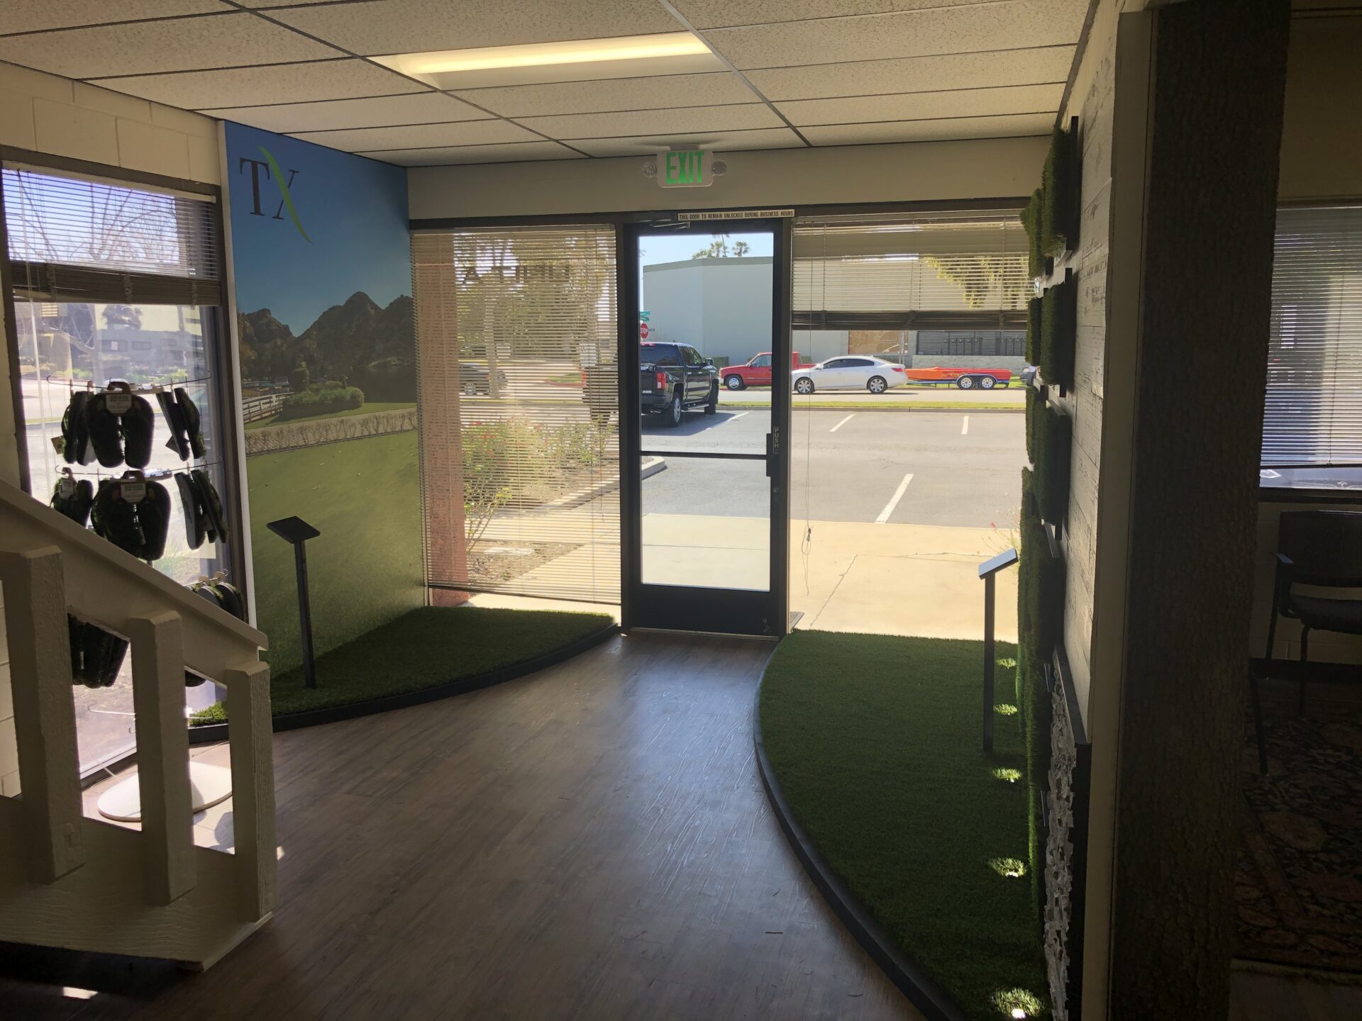
M 297 515 L 308 542 L 312 634 L 326 652 L 422 602 L 414 432 L 247 459 L 256 621 L 274 670 L 302 662 L 293 547 L 266 528 Z

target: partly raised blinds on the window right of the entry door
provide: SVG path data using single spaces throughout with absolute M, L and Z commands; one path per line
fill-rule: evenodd
M 1026 327 L 1026 233 L 1015 212 L 802 216 L 797 329 Z

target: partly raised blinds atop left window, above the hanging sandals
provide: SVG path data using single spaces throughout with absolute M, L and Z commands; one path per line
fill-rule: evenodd
M 218 218 L 206 197 L 5 166 L 15 291 L 69 302 L 221 305 Z

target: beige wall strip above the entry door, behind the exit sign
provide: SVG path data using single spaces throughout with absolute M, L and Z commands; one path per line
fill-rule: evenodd
M 646 157 L 422 166 L 407 172 L 407 189 L 413 219 L 1000 199 L 1031 193 L 1046 144 L 1024 137 L 720 152 L 729 172 L 712 185 L 670 189 L 643 176 Z

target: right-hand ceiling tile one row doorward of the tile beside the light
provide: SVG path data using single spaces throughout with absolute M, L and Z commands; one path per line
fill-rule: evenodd
M 1073 46 L 1043 46 L 903 60 L 859 60 L 851 64 L 748 71 L 746 75 L 772 101 L 1062 83 L 1069 76 L 1073 50 Z

